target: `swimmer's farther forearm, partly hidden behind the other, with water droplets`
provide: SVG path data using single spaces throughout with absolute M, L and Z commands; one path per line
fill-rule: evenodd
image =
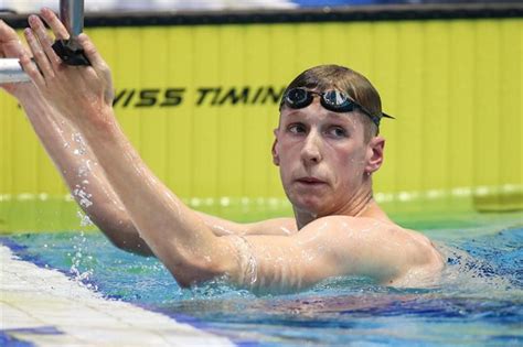
M 150 256 L 96 158 L 68 120 L 34 91 L 22 107 L 72 195 L 90 220 L 119 248 Z

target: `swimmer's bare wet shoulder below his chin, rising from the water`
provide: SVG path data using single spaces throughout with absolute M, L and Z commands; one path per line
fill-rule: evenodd
M 301 231 L 328 240 L 349 273 L 391 285 L 421 285 L 444 267 L 441 254 L 426 236 L 389 220 L 328 216 Z

